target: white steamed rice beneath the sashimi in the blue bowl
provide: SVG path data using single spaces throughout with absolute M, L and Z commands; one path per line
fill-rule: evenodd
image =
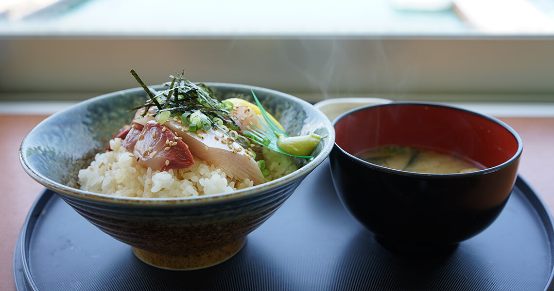
M 121 139 L 110 141 L 109 152 L 96 154 L 86 169 L 79 171 L 80 189 L 115 196 L 142 198 L 175 198 L 218 194 L 253 186 L 253 181 L 239 181 L 227 176 L 216 165 L 195 159 L 186 169 L 167 172 L 153 171 L 134 163 Z M 297 167 L 292 158 L 263 148 L 266 177 L 274 180 L 294 172 Z

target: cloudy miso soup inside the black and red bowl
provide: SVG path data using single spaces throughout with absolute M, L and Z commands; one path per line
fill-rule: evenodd
M 469 159 L 411 147 L 381 147 L 365 150 L 357 157 L 372 164 L 407 172 L 428 174 L 467 173 L 485 169 Z

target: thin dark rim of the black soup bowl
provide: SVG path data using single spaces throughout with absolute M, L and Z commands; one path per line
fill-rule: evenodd
M 485 115 L 484 113 L 479 113 L 479 112 L 476 112 L 476 111 L 468 110 L 466 108 L 462 108 L 462 107 L 458 107 L 458 106 L 454 106 L 454 105 L 447 105 L 447 104 L 438 103 L 438 102 L 394 101 L 394 102 L 390 102 L 390 103 L 372 104 L 372 105 L 361 106 L 361 107 L 354 108 L 352 110 L 348 110 L 348 111 L 342 113 L 340 116 L 335 118 L 335 120 L 332 122 L 332 125 L 333 125 L 333 127 L 335 127 L 335 125 L 338 122 L 340 122 L 341 119 L 345 118 L 346 116 L 351 115 L 352 113 L 355 113 L 355 112 L 358 112 L 358 111 L 367 110 L 368 108 L 405 106 L 405 105 L 444 107 L 444 108 L 449 108 L 449 109 L 452 109 L 452 110 L 463 111 L 463 112 L 470 113 L 470 114 L 479 116 L 481 118 L 485 118 L 485 119 L 488 119 L 490 121 L 493 121 L 493 122 L 499 124 L 504 129 L 506 129 L 508 132 L 510 132 L 512 134 L 512 136 L 514 136 L 514 138 L 516 139 L 516 142 L 517 142 L 516 153 L 514 155 L 512 155 L 512 157 L 510 159 L 506 160 L 506 162 L 504 162 L 504 163 L 496 165 L 495 167 L 486 168 L 486 169 L 475 171 L 475 172 L 452 173 L 452 174 L 428 174 L 428 173 L 417 173 L 417 172 L 408 172 L 408 171 L 403 171 L 403 170 L 391 169 L 391 168 L 387 168 L 387 167 L 382 167 L 382 166 L 377 165 L 377 164 L 372 164 L 370 162 L 366 162 L 365 160 L 360 159 L 360 158 L 356 157 L 355 155 L 352 155 L 352 154 L 348 153 L 346 150 L 342 149 L 340 147 L 340 145 L 338 145 L 336 142 L 334 144 L 334 148 L 336 150 L 339 150 L 342 154 L 346 155 L 346 157 L 351 159 L 353 162 L 356 162 L 356 163 L 361 164 L 361 165 L 365 165 L 366 167 L 376 169 L 376 170 L 379 170 L 381 172 L 403 175 L 403 176 L 437 178 L 437 179 L 440 179 L 440 178 L 462 178 L 462 177 L 480 176 L 480 175 L 493 173 L 493 172 L 504 169 L 504 168 L 508 167 L 509 165 L 515 163 L 521 156 L 521 153 L 522 153 L 522 150 L 523 150 L 523 142 L 521 140 L 521 137 L 519 136 L 519 134 L 517 134 L 517 132 L 513 128 L 511 128 L 505 122 L 502 122 L 500 119 L 497 119 L 495 117 Z

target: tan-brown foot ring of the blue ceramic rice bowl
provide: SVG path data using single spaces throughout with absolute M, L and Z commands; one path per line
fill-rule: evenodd
M 222 263 L 238 253 L 246 243 L 246 236 L 218 248 L 195 253 L 160 253 L 131 247 L 142 262 L 170 270 L 202 269 Z

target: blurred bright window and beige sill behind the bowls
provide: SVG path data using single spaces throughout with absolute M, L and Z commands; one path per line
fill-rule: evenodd
M 0 110 L 136 87 L 131 69 L 148 85 L 184 69 L 310 102 L 551 106 L 554 1 L 0 2 Z

